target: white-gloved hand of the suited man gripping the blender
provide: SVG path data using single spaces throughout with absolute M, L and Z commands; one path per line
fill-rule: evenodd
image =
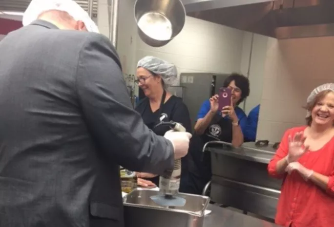
M 173 130 L 165 133 L 164 137 L 173 144 L 174 159 L 179 159 L 187 155 L 191 136 L 189 132 L 174 132 Z

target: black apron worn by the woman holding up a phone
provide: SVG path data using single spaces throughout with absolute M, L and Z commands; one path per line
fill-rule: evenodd
M 203 153 L 203 147 L 209 141 L 232 142 L 232 121 L 229 117 L 216 114 L 202 135 L 192 136 L 186 193 L 202 194 L 205 185 L 211 180 L 211 153 Z

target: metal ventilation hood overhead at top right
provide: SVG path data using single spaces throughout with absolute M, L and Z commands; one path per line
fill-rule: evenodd
M 273 38 L 334 36 L 334 0 L 182 0 L 187 15 Z

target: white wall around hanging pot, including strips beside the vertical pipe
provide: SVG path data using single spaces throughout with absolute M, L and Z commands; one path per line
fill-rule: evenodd
M 187 17 L 183 31 L 166 46 L 146 45 L 137 35 L 134 0 L 120 1 L 117 52 L 125 74 L 135 74 L 137 61 L 147 55 L 174 63 L 182 72 L 240 72 L 243 32 Z M 99 0 L 98 26 L 108 35 L 107 0 Z

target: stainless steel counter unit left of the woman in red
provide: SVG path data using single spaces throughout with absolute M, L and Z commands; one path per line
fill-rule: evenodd
M 282 185 L 267 171 L 274 150 L 217 142 L 205 150 L 211 152 L 211 201 L 274 219 Z

